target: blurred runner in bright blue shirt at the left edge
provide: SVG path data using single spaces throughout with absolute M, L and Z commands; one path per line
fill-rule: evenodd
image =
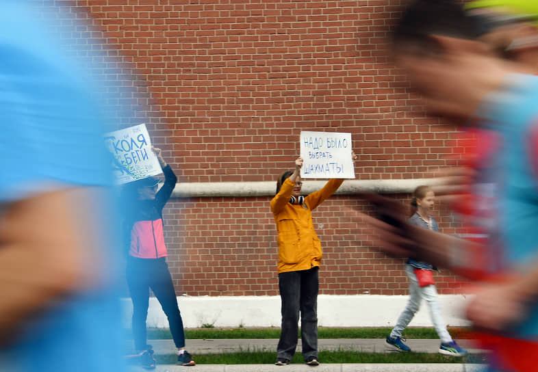
M 43 4 L 0 12 L 0 369 L 123 371 L 105 116 Z

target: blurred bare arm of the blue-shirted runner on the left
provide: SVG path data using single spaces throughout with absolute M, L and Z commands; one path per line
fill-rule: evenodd
M 94 202 L 89 189 L 63 189 L 3 204 L 0 341 L 40 309 L 106 282 Z

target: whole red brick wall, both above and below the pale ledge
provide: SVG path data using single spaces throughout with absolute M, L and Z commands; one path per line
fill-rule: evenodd
M 302 130 L 353 133 L 362 180 L 423 178 L 451 153 L 450 128 L 431 127 L 438 120 L 389 64 L 385 38 L 398 6 L 387 0 L 76 3 L 140 77 L 142 117 L 182 182 L 274 181 L 298 155 Z M 269 202 L 171 200 L 166 240 L 177 292 L 276 295 Z M 348 219 L 349 207 L 368 210 L 335 196 L 314 212 L 321 293 L 405 294 L 402 261 L 371 248 L 370 230 Z M 454 231 L 446 211 L 438 217 Z M 438 282 L 441 293 L 459 291 L 451 276 Z

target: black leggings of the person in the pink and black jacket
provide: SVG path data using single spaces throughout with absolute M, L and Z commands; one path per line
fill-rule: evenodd
M 166 264 L 166 258 L 127 258 L 127 285 L 133 300 L 133 336 L 137 351 L 146 347 L 146 318 L 149 308 L 149 289 L 168 317 L 170 332 L 176 347 L 185 347 L 183 321 L 177 306 L 177 297 Z

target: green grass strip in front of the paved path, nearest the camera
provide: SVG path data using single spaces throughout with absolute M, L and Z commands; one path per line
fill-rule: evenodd
M 337 350 L 320 351 L 321 363 L 485 363 L 482 354 L 470 355 L 465 358 L 443 356 L 426 353 L 359 353 L 357 351 Z M 176 364 L 175 355 L 156 355 L 159 364 Z M 246 350 L 227 354 L 194 355 L 196 364 L 273 364 L 277 359 L 274 351 Z M 295 354 L 292 363 L 303 364 L 303 356 Z

